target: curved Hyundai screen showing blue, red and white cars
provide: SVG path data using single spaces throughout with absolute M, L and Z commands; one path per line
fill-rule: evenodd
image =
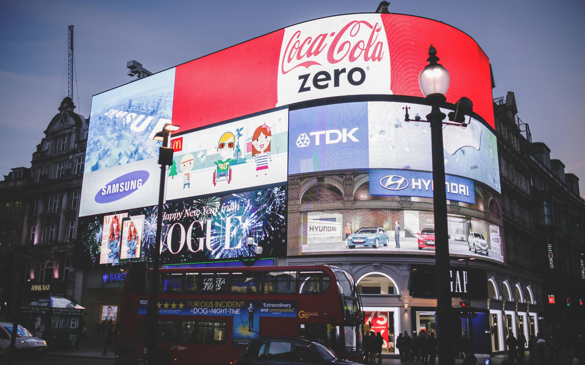
M 294 221 L 293 221 L 294 220 Z M 302 254 L 435 254 L 432 212 L 343 209 L 289 214 L 288 250 Z M 504 262 L 501 228 L 483 219 L 448 215 L 449 253 Z

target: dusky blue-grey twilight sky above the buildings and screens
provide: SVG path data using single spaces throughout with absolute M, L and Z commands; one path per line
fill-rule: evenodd
M 132 80 L 126 61 L 157 72 L 294 23 L 373 12 L 377 0 L 2 1 L 0 174 L 30 167 L 67 95 L 67 26 L 75 25 L 76 112 L 91 95 Z M 490 57 L 493 96 L 514 91 L 532 140 L 545 142 L 585 195 L 585 2 L 393 0 L 390 12 L 425 16 L 472 36 Z M 439 54 L 439 57 L 441 54 Z M 581 86 L 580 86 L 581 85 Z

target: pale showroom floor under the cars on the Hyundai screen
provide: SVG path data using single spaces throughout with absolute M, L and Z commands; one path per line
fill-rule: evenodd
M 435 249 L 425 248 L 422 250 L 418 249 L 418 243 L 416 238 L 412 237 L 400 237 L 400 247 L 396 247 L 394 242 L 394 236 L 388 240 L 388 246 L 380 245 L 377 249 L 364 246 L 356 246 L 355 249 L 347 247 L 347 242 L 320 242 L 320 243 L 309 243 L 308 245 L 302 246 L 302 253 L 409 253 L 409 254 L 429 254 L 434 255 Z M 483 253 L 474 253 L 473 250 L 469 250 L 469 246 L 466 241 L 449 240 L 449 253 L 471 257 L 481 257 L 482 259 L 491 259 L 499 262 L 504 262 L 504 257 L 500 253 L 490 251 L 489 256 Z

